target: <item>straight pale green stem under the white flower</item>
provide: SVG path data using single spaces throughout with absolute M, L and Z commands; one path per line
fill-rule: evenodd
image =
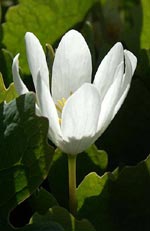
M 70 212 L 76 216 L 76 155 L 68 155 L 68 175 L 69 175 L 69 206 Z

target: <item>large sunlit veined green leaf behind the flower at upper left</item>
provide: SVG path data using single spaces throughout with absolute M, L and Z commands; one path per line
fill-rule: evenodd
M 3 43 L 15 55 L 21 53 L 20 65 L 28 73 L 24 35 L 35 33 L 42 45 L 53 44 L 68 29 L 81 22 L 95 0 L 20 0 L 10 7 L 3 24 Z

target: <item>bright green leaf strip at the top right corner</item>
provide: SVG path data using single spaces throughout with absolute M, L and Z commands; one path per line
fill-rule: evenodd
M 150 1 L 141 0 L 143 10 L 143 22 L 141 31 L 141 48 L 150 49 Z

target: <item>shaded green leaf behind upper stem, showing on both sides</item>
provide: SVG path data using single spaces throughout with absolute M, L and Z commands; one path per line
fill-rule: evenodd
M 94 170 L 103 173 L 107 167 L 107 154 L 92 145 L 85 153 L 77 157 L 77 184 L 85 174 Z M 48 181 L 53 195 L 61 205 L 68 207 L 68 165 L 67 155 L 60 150 L 55 151 Z M 60 193 L 61 192 L 61 193 Z

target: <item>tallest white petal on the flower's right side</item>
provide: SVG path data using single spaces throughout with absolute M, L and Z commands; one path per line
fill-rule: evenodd
M 122 44 L 118 42 L 102 60 L 94 79 L 94 84 L 102 97 L 101 99 L 103 99 L 108 88 L 114 81 L 116 69 L 118 65 L 123 62 L 123 59 L 123 47 Z

